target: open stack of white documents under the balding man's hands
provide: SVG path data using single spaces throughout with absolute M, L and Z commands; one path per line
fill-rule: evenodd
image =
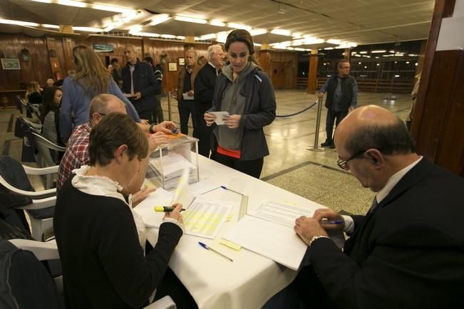
M 223 238 L 296 271 L 307 246 L 295 233 L 294 222 L 300 216 L 312 216 L 312 212 L 306 207 L 267 201 L 244 216 Z

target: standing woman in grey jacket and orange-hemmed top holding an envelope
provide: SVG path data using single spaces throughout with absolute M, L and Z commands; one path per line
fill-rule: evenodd
M 212 108 L 205 113 L 206 125 L 215 123 L 209 112 L 227 111 L 225 125 L 214 128 L 212 150 L 216 161 L 259 178 L 264 157 L 269 155 L 263 127 L 274 121 L 276 100 L 271 80 L 254 58 L 248 31 L 235 29 L 225 42 L 230 65 L 217 77 Z

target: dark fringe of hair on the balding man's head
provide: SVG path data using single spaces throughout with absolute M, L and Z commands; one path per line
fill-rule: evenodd
M 363 125 L 345 141 L 345 149 L 351 155 L 370 148 L 379 150 L 383 155 L 416 152 L 406 124 L 398 117 L 393 125 Z

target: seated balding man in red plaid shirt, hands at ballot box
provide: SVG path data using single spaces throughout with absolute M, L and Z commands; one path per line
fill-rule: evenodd
M 89 112 L 90 121 L 76 127 L 68 140 L 68 145 L 66 145 L 66 151 L 58 168 L 58 177 L 56 179 L 57 189 L 60 189 L 63 183 L 66 182 L 66 179 L 71 176 L 73 169 L 78 169 L 81 165 L 88 164 L 88 137 L 91 128 L 97 125 L 105 115 L 112 112 L 126 113 L 124 103 L 117 97 L 103 93 L 93 98 Z M 145 132 L 156 132 L 149 137 L 150 140 L 153 140 L 153 150 L 158 145 L 167 143 L 165 133 L 169 134 L 170 129 L 175 128 L 174 122 L 170 121 L 162 122 L 159 125 L 143 125 L 140 123 L 138 125 Z M 148 158 L 144 164 L 148 164 Z M 145 177 L 145 174 L 140 175 L 140 177 Z

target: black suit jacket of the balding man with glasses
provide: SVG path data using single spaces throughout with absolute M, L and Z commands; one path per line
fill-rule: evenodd
M 344 252 L 311 264 L 339 308 L 464 308 L 464 179 L 421 159 L 372 214 L 354 216 Z

